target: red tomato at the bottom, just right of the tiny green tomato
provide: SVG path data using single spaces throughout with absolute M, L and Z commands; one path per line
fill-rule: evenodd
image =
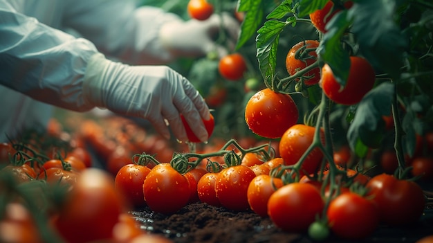
M 348 240 L 361 240 L 371 235 L 379 224 L 374 202 L 353 192 L 335 197 L 326 216 L 331 231 Z

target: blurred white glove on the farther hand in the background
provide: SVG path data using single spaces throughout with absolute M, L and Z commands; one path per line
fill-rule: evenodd
M 228 45 L 234 48 L 240 25 L 237 19 L 227 13 L 221 16 L 214 14 L 204 21 L 190 19 L 167 22 L 160 29 L 160 43 L 176 56 L 194 57 L 216 51 L 219 57 L 223 57 L 228 54 L 228 50 L 214 42 L 214 35 L 218 34 L 223 26 L 228 32 Z

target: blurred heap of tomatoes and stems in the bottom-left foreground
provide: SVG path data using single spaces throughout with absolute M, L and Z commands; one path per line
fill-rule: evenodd
M 140 229 L 81 138 L 50 132 L 0 144 L 1 242 L 171 242 Z

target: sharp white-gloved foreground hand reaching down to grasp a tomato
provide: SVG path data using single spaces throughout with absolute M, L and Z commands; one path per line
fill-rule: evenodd
M 84 75 L 84 99 L 117 114 L 149 120 L 169 138 L 167 121 L 180 141 L 187 141 L 180 114 L 185 116 L 201 141 L 208 140 L 202 118 L 210 119 L 208 106 L 182 75 L 168 66 L 128 66 L 91 57 Z

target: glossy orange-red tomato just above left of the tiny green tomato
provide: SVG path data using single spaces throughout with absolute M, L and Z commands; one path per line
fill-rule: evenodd
M 324 201 L 315 186 L 289 183 L 270 195 L 268 215 L 283 231 L 304 233 L 323 207 Z

